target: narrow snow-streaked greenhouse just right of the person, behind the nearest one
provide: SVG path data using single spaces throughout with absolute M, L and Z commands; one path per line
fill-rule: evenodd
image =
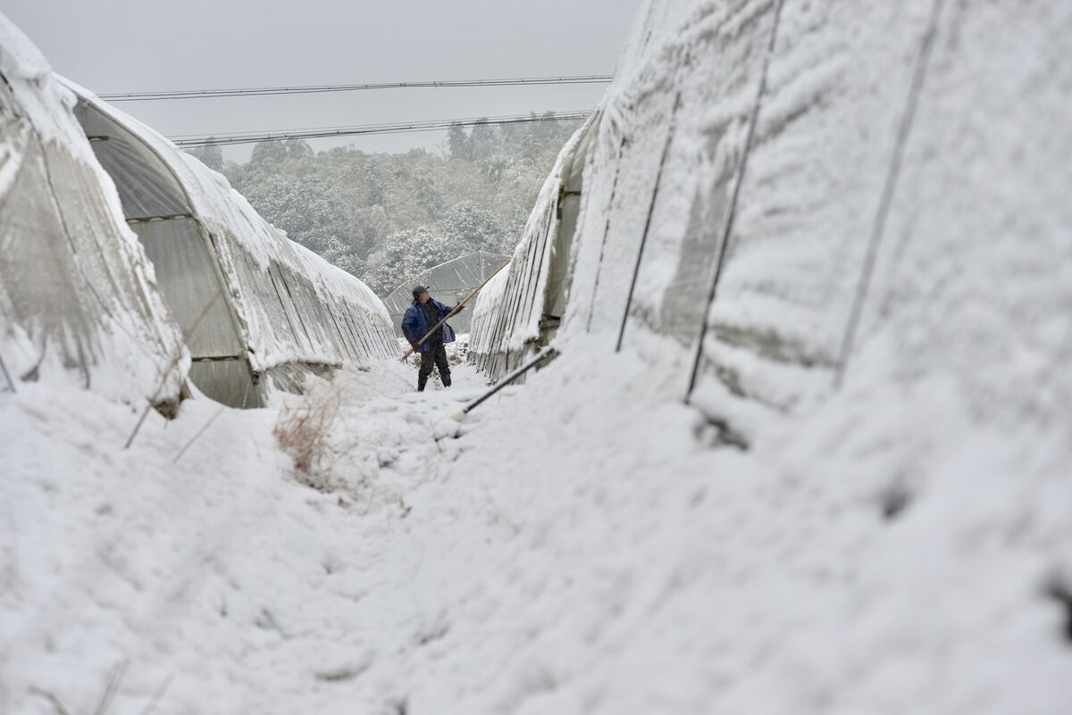
M 492 380 L 551 340 L 562 323 L 583 167 L 598 125 L 597 112 L 567 142 L 540 189 L 509 269 L 477 299 L 468 359 Z

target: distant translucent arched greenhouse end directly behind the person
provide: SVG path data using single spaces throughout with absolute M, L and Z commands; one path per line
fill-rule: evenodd
M 425 286 L 433 299 L 444 305 L 455 305 L 487 280 L 488 276 L 494 273 L 495 269 L 508 258 L 509 256 L 502 254 L 477 250 L 446 263 L 440 263 L 407 278 L 405 283 L 384 299 L 397 334 L 402 335 L 402 318 L 413 304 L 414 286 Z M 458 333 L 468 333 L 472 324 L 472 308 L 462 310 L 450 319 L 450 326 Z

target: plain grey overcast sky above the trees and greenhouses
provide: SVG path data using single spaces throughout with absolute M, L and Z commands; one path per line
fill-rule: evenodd
M 610 74 L 640 1 L 0 0 L 0 10 L 54 70 L 106 93 Z M 174 136 L 587 109 L 605 89 L 412 89 L 119 106 Z M 411 134 L 337 143 L 405 151 L 443 141 L 441 134 Z

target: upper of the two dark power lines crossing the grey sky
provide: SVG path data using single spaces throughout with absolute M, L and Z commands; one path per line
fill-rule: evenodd
M 162 92 L 115 92 L 99 95 L 109 102 L 153 102 L 158 100 L 203 100 L 225 96 L 269 96 L 276 94 L 317 94 L 384 89 L 451 89 L 458 87 L 517 87 L 539 85 L 605 85 L 613 75 L 576 75 L 568 77 L 512 77 L 505 79 L 449 79 L 445 81 L 374 82 L 360 85 L 311 85 L 306 87 L 250 87 L 215 90 L 175 90 Z

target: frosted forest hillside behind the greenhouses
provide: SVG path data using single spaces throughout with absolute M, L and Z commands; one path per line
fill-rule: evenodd
M 420 270 L 473 250 L 512 253 L 578 125 L 452 126 L 438 152 L 314 152 L 306 141 L 286 140 L 255 144 L 245 164 L 224 162 L 218 146 L 190 153 L 226 176 L 291 239 L 383 296 Z

